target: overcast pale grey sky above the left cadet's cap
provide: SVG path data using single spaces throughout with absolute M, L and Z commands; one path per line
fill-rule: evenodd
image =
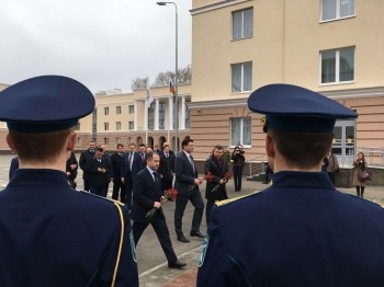
M 191 64 L 192 0 L 174 0 L 179 68 Z M 174 70 L 174 5 L 156 0 L 0 0 L 0 82 L 63 74 L 92 92 Z

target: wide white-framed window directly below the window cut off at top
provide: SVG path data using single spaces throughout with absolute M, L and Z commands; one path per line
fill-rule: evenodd
M 321 83 L 354 81 L 354 47 L 320 53 Z

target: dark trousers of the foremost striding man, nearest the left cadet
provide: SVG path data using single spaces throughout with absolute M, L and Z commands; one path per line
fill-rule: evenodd
M 148 225 L 149 222 L 134 221 L 132 226 L 132 232 L 134 236 L 135 245 L 137 245 L 138 240 L 140 239 L 144 230 L 148 227 Z M 155 219 L 151 222 L 151 225 L 156 232 L 157 238 L 159 239 L 162 251 L 166 254 L 167 261 L 169 263 L 176 262 L 178 257 L 176 256 L 172 248 L 172 242 L 169 236 L 169 230 L 167 227 L 166 219 L 163 219 L 159 215 L 155 215 Z

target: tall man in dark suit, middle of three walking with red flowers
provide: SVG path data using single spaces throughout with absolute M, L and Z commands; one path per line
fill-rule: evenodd
M 197 170 L 191 154 L 194 148 L 193 140 L 190 137 L 185 137 L 181 142 L 181 147 L 182 151 L 176 157 L 174 160 L 174 188 L 179 192 L 176 199 L 174 229 L 178 240 L 187 243 L 190 242 L 190 240 L 184 237 L 182 231 L 182 217 L 189 200 L 191 200 L 192 205 L 194 206 L 190 236 L 204 238 L 204 236 L 200 232 L 200 225 L 203 219 L 204 202 L 199 191 L 199 185 L 203 183 L 203 179 L 197 176 Z

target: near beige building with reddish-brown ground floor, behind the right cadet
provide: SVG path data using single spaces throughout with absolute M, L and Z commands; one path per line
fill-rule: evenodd
M 334 151 L 342 163 L 352 161 L 357 147 L 383 148 L 383 13 L 380 0 L 194 0 L 190 111 L 196 153 L 241 144 L 247 159 L 264 154 L 262 115 L 250 113 L 247 97 L 278 82 L 320 92 L 359 113 L 357 120 L 336 124 Z

